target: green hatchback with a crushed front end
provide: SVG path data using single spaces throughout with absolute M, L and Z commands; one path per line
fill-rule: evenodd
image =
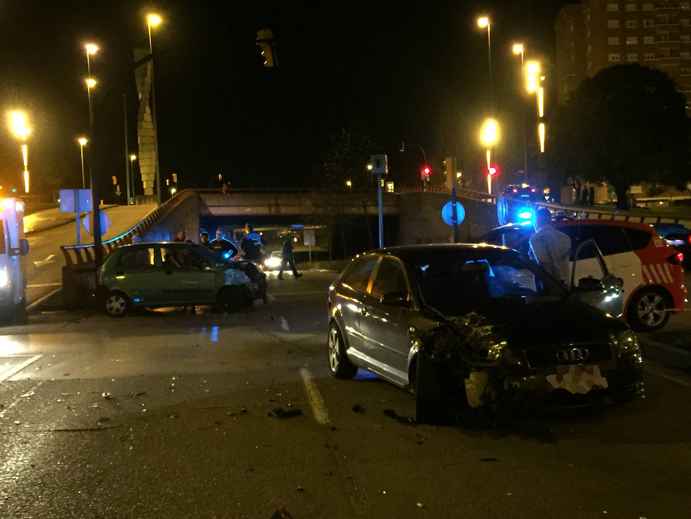
M 252 262 L 231 262 L 191 243 L 160 242 L 113 249 L 98 271 L 104 309 L 218 304 L 228 312 L 266 302 L 266 275 Z

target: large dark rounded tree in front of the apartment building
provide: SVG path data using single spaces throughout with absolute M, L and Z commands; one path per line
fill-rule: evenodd
M 685 100 L 663 71 L 616 65 L 581 82 L 548 127 L 547 163 L 564 179 L 607 181 L 616 206 L 642 182 L 683 188 L 689 178 Z

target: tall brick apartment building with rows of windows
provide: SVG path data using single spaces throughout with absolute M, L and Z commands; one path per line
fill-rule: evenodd
M 607 66 L 639 63 L 665 71 L 691 116 L 691 1 L 582 0 L 564 6 L 556 32 L 557 99 Z

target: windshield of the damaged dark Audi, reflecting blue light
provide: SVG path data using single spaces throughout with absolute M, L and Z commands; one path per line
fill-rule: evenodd
M 424 304 L 459 315 L 496 298 L 567 295 L 553 277 L 528 258 L 495 248 L 434 251 L 410 264 Z

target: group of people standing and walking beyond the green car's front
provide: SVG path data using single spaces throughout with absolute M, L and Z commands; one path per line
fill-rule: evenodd
M 186 238 L 187 233 L 183 229 L 178 231 L 178 237 L 177 239 L 174 239 L 173 242 L 193 243 L 191 239 Z M 251 262 L 261 263 L 263 260 L 261 248 L 262 246 L 267 245 L 264 238 L 259 233 L 254 231 L 254 224 L 245 224 L 245 236 L 243 237 L 242 242 L 240 242 L 239 248 L 229 239 L 225 238 L 225 230 L 220 227 L 216 230 L 216 239 L 209 241 L 209 233 L 206 231 L 202 231 L 199 239 L 199 244 L 202 247 L 207 248 L 209 251 L 213 251 L 214 253 L 222 255 L 223 257 L 226 257 L 232 261 L 249 260 Z M 294 277 L 297 278 L 302 276 L 302 274 L 298 273 L 297 269 L 295 268 L 293 242 L 290 236 L 288 236 L 285 242 L 283 242 L 281 259 L 281 269 L 278 271 L 279 280 L 283 280 L 283 271 L 288 265 L 290 265 Z

